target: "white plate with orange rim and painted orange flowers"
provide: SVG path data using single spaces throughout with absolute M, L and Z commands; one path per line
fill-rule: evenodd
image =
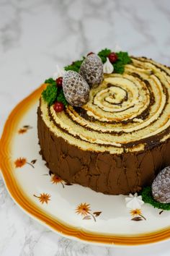
M 130 211 L 125 196 L 68 184 L 48 170 L 37 139 L 37 106 L 43 88 L 14 108 L 1 137 L 1 171 L 14 201 L 53 231 L 84 242 L 126 246 L 169 239 L 169 211 L 148 204 Z

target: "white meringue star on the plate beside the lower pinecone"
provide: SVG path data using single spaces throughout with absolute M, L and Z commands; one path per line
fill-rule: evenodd
M 128 197 L 125 197 L 126 207 L 130 209 L 140 209 L 141 205 L 144 204 L 142 196 L 137 193 L 135 195 L 129 194 Z

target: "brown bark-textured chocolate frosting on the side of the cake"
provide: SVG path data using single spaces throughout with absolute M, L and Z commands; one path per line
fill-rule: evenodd
M 170 140 L 151 149 L 121 155 L 81 150 L 50 131 L 37 111 L 41 154 L 50 171 L 70 183 L 109 195 L 127 195 L 150 185 L 170 165 Z

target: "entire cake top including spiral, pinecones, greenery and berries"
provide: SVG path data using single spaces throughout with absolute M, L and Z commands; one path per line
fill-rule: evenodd
M 116 154 L 169 140 L 168 67 L 104 49 L 65 70 L 45 81 L 40 101 L 42 118 L 55 135 L 82 150 Z

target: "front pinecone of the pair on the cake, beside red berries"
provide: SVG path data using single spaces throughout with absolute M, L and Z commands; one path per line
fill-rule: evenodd
M 83 106 L 89 101 L 89 85 L 81 74 L 68 70 L 63 75 L 63 93 L 72 106 Z

